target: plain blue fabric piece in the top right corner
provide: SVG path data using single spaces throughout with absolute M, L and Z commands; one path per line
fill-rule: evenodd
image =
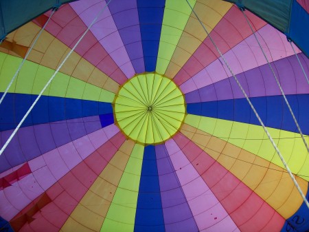
M 288 37 L 309 57 L 309 14 L 296 0 L 290 13 Z

